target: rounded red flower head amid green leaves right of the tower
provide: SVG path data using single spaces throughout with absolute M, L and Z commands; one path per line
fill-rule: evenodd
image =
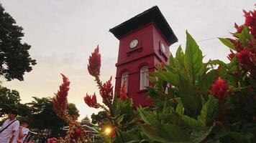
M 223 100 L 227 94 L 229 85 L 223 79 L 219 77 L 214 84 L 211 84 L 210 93 L 216 97 L 216 99 Z

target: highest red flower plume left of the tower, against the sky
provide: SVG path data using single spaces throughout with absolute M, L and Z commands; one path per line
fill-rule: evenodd
M 87 65 L 89 74 L 93 77 L 99 77 L 101 69 L 101 54 L 99 54 L 99 45 L 89 56 L 89 64 Z

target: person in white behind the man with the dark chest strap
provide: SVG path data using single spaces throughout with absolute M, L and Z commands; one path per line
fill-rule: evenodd
M 20 122 L 19 129 L 14 132 L 14 139 L 13 139 L 12 143 L 24 142 L 25 137 L 29 133 L 29 129 L 27 129 L 28 125 L 29 125 L 29 122 L 27 122 L 27 121 Z

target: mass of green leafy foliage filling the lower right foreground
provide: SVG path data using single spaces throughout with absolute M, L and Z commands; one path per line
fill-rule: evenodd
M 109 120 L 116 122 L 116 137 L 106 142 L 256 142 L 254 75 L 236 56 L 229 63 L 204 63 L 196 41 L 186 34 L 185 53 L 179 46 L 175 57 L 170 54 L 169 63 L 149 77 L 151 107 L 133 110 L 131 99 L 114 98 Z M 255 41 L 247 26 L 233 35 L 243 46 Z M 219 39 L 237 50 L 234 40 Z

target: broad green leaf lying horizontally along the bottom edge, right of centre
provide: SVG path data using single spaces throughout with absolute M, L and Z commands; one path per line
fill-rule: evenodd
M 187 132 L 173 124 L 142 124 L 141 129 L 147 137 L 157 142 L 188 142 L 189 139 Z

